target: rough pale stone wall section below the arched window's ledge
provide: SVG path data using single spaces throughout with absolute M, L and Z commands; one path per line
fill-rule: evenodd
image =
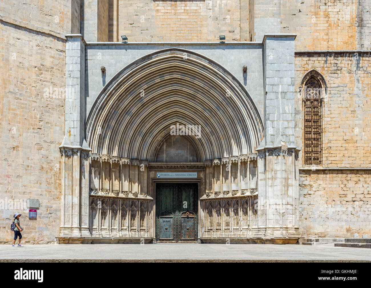
M 371 234 L 371 171 L 301 171 L 299 223 L 304 237 Z

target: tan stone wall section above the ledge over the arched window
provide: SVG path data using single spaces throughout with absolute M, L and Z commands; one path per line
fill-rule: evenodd
M 371 49 L 369 0 L 282 1 L 281 32 L 295 33 L 296 51 Z

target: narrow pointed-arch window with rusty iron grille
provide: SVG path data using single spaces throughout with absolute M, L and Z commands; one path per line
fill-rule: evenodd
M 322 75 L 311 70 L 302 80 L 305 165 L 322 165 L 322 103 L 326 94 Z

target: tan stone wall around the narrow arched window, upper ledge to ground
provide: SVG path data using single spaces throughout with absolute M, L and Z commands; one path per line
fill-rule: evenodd
M 369 53 L 296 53 L 295 139 L 303 149 L 302 77 L 311 69 L 325 78 L 323 167 L 368 168 L 371 164 Z M 299 157 L 299 161 L 302 161 Z M 301 165 L 302 166 L 302 165 Z M 305 166 L 304 166 L 305 167 Z M 302 236 L 352 237 L 371 233 L 371 171 L 301 171 Z

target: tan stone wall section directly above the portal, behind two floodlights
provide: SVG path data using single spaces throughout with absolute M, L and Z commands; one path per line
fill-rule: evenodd
M 127 35 L 129 42 L 219 41 L 219 35 L 240 41 L 239 0 L 119 0 L 118 6 L 119 36 Z M 242 14 L 246 29 L 246 7 Z

